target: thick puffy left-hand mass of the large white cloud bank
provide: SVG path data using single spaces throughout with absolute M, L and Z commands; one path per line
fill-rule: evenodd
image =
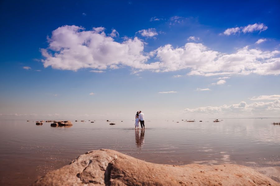
M 104 30 L 97 27 L 85 31 L 75 25 L 54 30 L 51 38 L 48 38 L 49 47 L 41 49 L 45 58 L 42 60 L 44 67 L 74 71 L 81 68 L 103 70 L 120 64 L 137 69 L 156 68 L 145 63 L 149 57 L 143 54 L 144 43 L 140 39 L 135 37 L 121 43 L 115 42 L 106 36 Z

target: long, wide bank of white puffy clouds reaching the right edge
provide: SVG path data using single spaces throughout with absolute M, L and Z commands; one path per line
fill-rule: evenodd
M 280 74 L 280 51 L 262 51 L 248 46 L 231 54 L 214 51 L 202 43 L 188 42 L 174 48 L 167 44 L 144 52 L 145 43 L 135 38 L 116 42 L 105 34 L 105 28 L 86 31 L 75 25 L 62 26 L 48 38 L 49 47 L 41 49 L 44 67 L 78 70 L 105 70 L 120 66 L 135 71 L 170 72 L 189 69 L 188 75 L 215 76 L 231 74 Z M 153 60 L 155 62 L 149 62 Z

